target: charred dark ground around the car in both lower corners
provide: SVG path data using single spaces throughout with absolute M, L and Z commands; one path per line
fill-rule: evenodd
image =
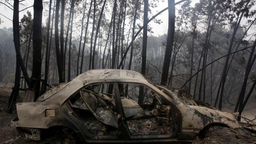
M 50 136 L 44 138 L 42 141 L 34 141 L 29 138 L 21 137 L 16 131 L 16 128 L 12 127 L 10 121 L 14 119 L 16 114 L 8 114 L 6 107 L 8 98 L 12 92 L 11 88 L 0 87 L 0 144 L 60 144 L 60 135 L 49 134 Z M 18 102 L 22 101 L 24 92 L 20 94 Z M 195 138 L 193 144 L 256 144 L 256 133 L 246 130 L 245 128 L 230 129 L 215 126 L 206 133 L 206 138 Z M 18 140 L 15 140 L 19 138 Z

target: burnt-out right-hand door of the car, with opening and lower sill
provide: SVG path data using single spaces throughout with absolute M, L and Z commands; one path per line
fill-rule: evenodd
M 158 92 L 150 86 L 138 83 L 118 83 L 116 87 L 119 91 L 117 98 L 120 98 L 119 102 L 122 104 L 122 127 L 128 132 L 126 137 L 141 139 L 176 136 L 176 127 L 181 122 L 176 124 L 172 118 L 172 105 Z

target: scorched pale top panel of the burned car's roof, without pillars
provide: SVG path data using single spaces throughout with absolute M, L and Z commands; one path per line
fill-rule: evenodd
M 97 69 L 88 70 L 72 81 L 76 80 L 97 80 L 99 82 L 112 82 L 112 81 L 123 81 L 123 82 L 146 82 L 146 79 L 139 72 L 132 70 L 116 70 L 116 69 Z

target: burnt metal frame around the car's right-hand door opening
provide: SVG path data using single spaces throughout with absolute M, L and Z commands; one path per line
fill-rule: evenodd
M 116 84 L 115 87 L 116 87 L 116 89 L 118 91 L 119 91 L 118 84 L 139 84 L 139 85 L 146 86 L 146 87 L 150 88 L 150 90 L 152 90 L 153 92 L 155 92 L 159 96 L 162 96 L 162 94 L 160 94 L 158 92 L 158 89 L 156 87 L 154 87 L 153 85 L 150 86 L 150 85 L 147 85 L 147 84 L 144 84 L 144 83 L 140 83 L 140 82 L 116 82 L 115 84 Z M 121 102 L 121 98 L 120 98 L 120 93 L 118 93 L 117 90 L 115 90 L 116 98 L 118 98 L 118 100 L 116 100 L 116 102 L 117 101 L 120 102 L 121 103 L 120 106 L 122 106 L 122 102 Z M 162 96 L 162 97 L 164 98 L 164 96 Z M 167 100 L 167 102 L 170 104 L 172 111 L 174 110 L 176 112 L 175 114 L 172 114 L 172 116 L 176 115 L 176 117 L 177 117 L 176 119 L 178 119 L 178 121 L 177 121 L 177 120 L 174 120 L 174 118 L 173 118 L 173 121 L 175 122 L 174 124 L 177 127 L 175 130 L 173 129 L 169 134 L 131 135 L 130 131 L 129 131 L 129 128 L 128 128 L 128 124 L 127 124 L 126 118 L 124 116 L 124 108 L 122 106 L 122 108 L 121 108 L 122 109 L 121 110 L 122 111 L 122 115 L 121 115 L 122 116 L 122 122 L 121 122 L 122 125 L 121 125 L 121 127 L 125 128 L 125 130 L 123 130 L 125 132 L 125 135 L 122 138 L 132 139 L 132 140 L 141 140 L 141 139 L 174 139 L 174 138 L 177 138 L 177 136 L 180 134 L 181 129 L 182 129 L 182 114 L 181 114 L 180 110 L 172 102 L 170 102 L 169 100 Z

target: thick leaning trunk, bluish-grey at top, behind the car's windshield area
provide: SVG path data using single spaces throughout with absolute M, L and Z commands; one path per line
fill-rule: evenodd
M 168 0 L 168 34 L 166 40 L 166 50 L 164 55 L 164 64 L 162 70 L 161 84 L 167 84 L 167 78 L 170 68 L 170 61 L 172 56 L 172 46 L 175 31 L 175 3 L 174 0 Z

